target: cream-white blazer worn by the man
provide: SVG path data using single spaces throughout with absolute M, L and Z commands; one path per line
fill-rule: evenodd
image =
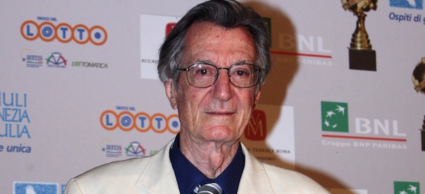
M 173 140 L 153 156 L 115 161 L 88 170 L 68 181 L 65 194 L 179 193 L 169 157 L 171 145 Z M 245 169 L 238 193 L 329 193 L 298 172 L 258 161 L 244 145 L 242 152 Z

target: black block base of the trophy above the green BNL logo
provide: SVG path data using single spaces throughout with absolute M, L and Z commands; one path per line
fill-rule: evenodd
M 362 49 L 350 49 L 350 70 L 367 70 L 376 72 L 376 51 L 362 50 Z

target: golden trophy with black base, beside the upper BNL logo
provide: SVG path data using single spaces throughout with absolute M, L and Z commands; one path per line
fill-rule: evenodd
M 344 10 L 357 15 L 357 26 L 351 38 L 349 51 L 350 70 L 376 71 L 376 51 L 372 49 L 364 27 L 365 12 L 376 10 L 378 0 L 341 0 Z

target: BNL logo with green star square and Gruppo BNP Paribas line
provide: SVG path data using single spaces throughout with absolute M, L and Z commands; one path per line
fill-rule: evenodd
M 354 118 L 355 130 L 350 130 L 348 104 L 345 102 L 321 102 L 321 115 L 322 136 L 325 138 L 322 140 L 323 145 L 407 149 L 406 134 L 399 131 L 398 120 Z M 330 138 L 339 141 L 330 140 Z

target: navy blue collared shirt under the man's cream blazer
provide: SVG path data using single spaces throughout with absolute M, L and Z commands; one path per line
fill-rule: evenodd
M 219 184 L 225 194 L 238 193 L 240 177 L 245 168 L 245 155 L 242 153 L 240 144 L 229 166 L 215 179 L 208 179 L 180 152 L 180 134 L 177 134 L 170 149 L 170 159 L 181 194 L 194 193 L 196 186 L 210 182 Z

